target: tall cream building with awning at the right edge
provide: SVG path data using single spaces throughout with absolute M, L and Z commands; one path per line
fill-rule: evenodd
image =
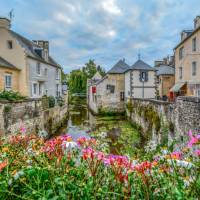
M 181 33 L 175 47 L 175 96 L 200 97 L 200 16 L 194 20 L 193 30 Z

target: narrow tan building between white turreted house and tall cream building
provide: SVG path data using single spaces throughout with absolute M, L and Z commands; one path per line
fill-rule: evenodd
M 170 99 L 170 89 L 175 83 L 174 57 L 164 58 L 162 61 L 155 61 L 157 95 L 162 100 Z

